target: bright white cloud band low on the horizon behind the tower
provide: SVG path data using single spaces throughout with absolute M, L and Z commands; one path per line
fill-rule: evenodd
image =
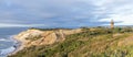
M 110 18 L 102 19 L 100 22 L 110 22 L 111 20 L 114 20 L 115 22 L 121 23 L 115 23 L 115 25 L 133 25 L 133 14 L 112 14 Z M 105 25 L 105 24 L 104 24 Z

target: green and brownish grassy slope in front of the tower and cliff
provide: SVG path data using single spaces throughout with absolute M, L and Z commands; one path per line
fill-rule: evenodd
M 116 29 L 115 33 L 121 31 Z M 68 35 L 62 43 L 31 46 L 9 57 L 133 57 L 133 45 L 117 45 L 132 34 L 125 31 L 112 37 L 108 29 L 84 29 L 82 33 Z

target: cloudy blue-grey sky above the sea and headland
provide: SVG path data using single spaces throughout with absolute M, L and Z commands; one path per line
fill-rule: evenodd
M 0 0 L 0 27 L 133 25 L 132 0 Z

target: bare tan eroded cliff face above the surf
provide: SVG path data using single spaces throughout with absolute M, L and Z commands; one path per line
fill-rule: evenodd
M 28 30 L 16 35 L 14 38 L 21 42 L 23 47 L 29 47 L 31 45 L 50 45 L 55 42 L 62 42 L 65 39 L 65 35 L 80 32 L 82 32 L 81 29 L 57 31 Z

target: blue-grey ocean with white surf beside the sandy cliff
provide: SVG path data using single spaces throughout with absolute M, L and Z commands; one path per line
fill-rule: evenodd
M 7 57 L 16 50 L 13 46 L 17 45 L 17 41 L 12 37 L 25 30 L 27 27 L 0 27 L 0 57 Z

